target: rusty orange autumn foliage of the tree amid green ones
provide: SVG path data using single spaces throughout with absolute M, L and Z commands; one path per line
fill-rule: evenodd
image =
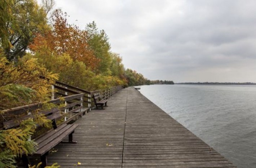
M 30 49 L 36 52 L 44 47 L 44 49 L 49 50 L 48 52 L 54 52 L 57 55 L 66 53 L 72 59 L 85 63 L 87 68 L 95 70 L 100 59 L 94 56 L 93 50 L 87 43 L 87 32 L 80 30 L 75 25 L 68 24 L 66 13 L 63 17 L 60 10 L 56 10 L 54 13 L 53 21 L 53 30 L 45 33 L 45 35 L 38 34 L 34 38 L 33 44 L 30 45 Z

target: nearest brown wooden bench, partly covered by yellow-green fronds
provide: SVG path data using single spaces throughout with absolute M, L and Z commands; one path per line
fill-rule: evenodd
M 56 121 L 61 117 L 61 111 L 57 108 L 53 108 L 49 111 L 41 111 L 40 114 L 45 115 L 48 119 L 52 121 L 53 129 L 41 135 L 35 142 L 37 143 L 36 151 L 32 155 L 40 156 L 40 160 L 42 162 L 42 167 L 47 166 L 47 155 L 50 149 L 59 144 L 66 136 L 69 136 L 69 143 L 76 143 L 73 141 L 73 133 L 78 124 L 61 124 L 57 127 Z M 24 117 L 16 118 L 10 121 L 3 122 L 4 129 L 18 127 L 19 124 L 28 118 L 33 118 L 34 115 L 26 115 Z M 30 164 L 30 160 L 28 157 L 23 154 L 22 161 L 25 166 L 28 168 L 28 164 Z

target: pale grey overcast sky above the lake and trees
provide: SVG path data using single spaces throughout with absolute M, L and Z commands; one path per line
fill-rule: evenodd
M 56 0 L 150 80 L 256 82 L 255 0 Z M 76 21 L 77 20 L 77 21 Z

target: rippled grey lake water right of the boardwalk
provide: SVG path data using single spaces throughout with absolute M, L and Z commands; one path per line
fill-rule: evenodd
M 256 168 L 256 86 L 149 85 L 140 92 L 239 168 Z

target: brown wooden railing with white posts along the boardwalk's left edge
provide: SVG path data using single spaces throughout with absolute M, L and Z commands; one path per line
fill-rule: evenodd
M 78 119 L 78 117 L 84 115 L 94 107 L 94 103 L 91 100 L 94 93 L 99 92 L 103 96 L 103 99 L 108 99 L 120 89 L 122 89 L 122 86 L 115 86 L 90 92 L 56 81 L 56 83 L 52 85 L 52 100 L 48 101 L 48 103 L 53 103 L 57 106 L 61 105 L 59 110 L 62 112 L 62 123 L 68 123 L 72 120 Z M 40 110 L 43 107 L 44 103 L 36 103 L 4 110 L 0 115 L 0 129 L 2 127 L 1 123 L 4 121 L 8 121 L 10 118 L 17 118 L 20 115 L 31 114 L 31 112 L 37 109 Z

